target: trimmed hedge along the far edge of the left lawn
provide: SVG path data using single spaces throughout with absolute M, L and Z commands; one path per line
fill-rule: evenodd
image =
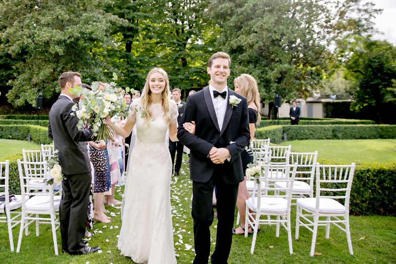
M 37 144 L 51 144 L 48 137 L 48 128 L 38 125 L 0 125 L 0 138 L 26 140 L 27 133 L 30 139 Z

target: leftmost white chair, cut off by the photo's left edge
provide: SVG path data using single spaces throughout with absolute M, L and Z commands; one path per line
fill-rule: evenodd
M 14 211 L 22 206 L 22 196 L 9 194 L 9 161 L 0 162 L 0 214 L 4 213 L 5 216 L 0 216 L 0 223 L 7 223 L 9 245 L 11 251 L 14 251 L 14 240 L 12 236 L 12 228 L 21 223 L 17 220 L 22 215 L 21 211 Z M 25 200 L 29 200 L 25 196 Z M 11 216 L 12 215 L 12 216 Z

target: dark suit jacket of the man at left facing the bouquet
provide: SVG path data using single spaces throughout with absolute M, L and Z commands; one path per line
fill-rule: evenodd
M 91 171 L 88 158 L 87 141 L 92 139 L 94 130 L 78 130 L 78 117 L 70 115 L 74 105 L 65 96 L 59 96 L 49 111 L 48 136 L 53 139 L 62 173 L 66 175 L 81 174 Z

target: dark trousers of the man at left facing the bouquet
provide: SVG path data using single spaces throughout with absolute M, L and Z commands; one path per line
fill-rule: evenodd
M 62 181 L 62 199 L 59 205 L 62 250 L 79 250 L 87 227 L 88 199 L 91 188 L 91 172 L 65 175 Z

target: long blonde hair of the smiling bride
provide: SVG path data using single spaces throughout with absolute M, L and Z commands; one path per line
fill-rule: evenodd
M 162 91 L 162 108 L 164 110 L 164 118 L 167 122 L 167 124 L 170 124 L 171 118 L 169 115 L 169 78 L 168 78 L 168 74 L 166 73 L 166 71 L 164 71 L 162 68 L 159 67 L 155 67 L 152 68 L 149 72 L 148 75 L 146 77 L 146 84 L 145 84 L 145 88 L 143 88 L 143 92 L 142 92 L 142 97 L 141 97 L 141 103 L 143 106 L 143 111 L 147 111 L 145 117 L 143 117 L 145 119 L 145 122 L 149 123 L 150 119 L 151 119 L 151 110 L 149 109 L 151 104 L 152 104 L 152 99 L 151 99 L 151 91 L 150 91 L 150 87 L 148 85 L 148 82 L 150 80 L 150 77 L 153 73 L 155 72 L 159 72 L 165 79 L 165 89 Z

